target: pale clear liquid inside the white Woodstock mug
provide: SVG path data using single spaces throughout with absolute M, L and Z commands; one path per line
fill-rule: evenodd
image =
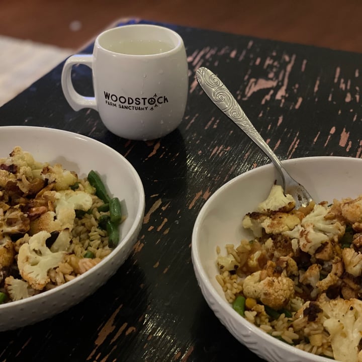
M 106 48 L 120 54 L 152 55 L 167 52 L 174 47 L 160 40 L 122 40 Z

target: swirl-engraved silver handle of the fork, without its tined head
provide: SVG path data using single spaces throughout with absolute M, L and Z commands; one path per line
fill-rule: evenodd
M 241 128 L 270 158 L 282 175 L 283 188 L 285 189 L 286 177 L 290 177 L 289 174 L 287 174 L 287 171 L 284 169 L 276 154 L 254 128 L 229 89 L 211 70 L 205 67 L 201 67 L 196 71 L 196 78 L 214 104 Z

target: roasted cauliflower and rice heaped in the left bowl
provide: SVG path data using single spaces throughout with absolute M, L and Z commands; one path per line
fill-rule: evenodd
M 0 158 L 0 303 L 67 283 L 112 252 L 96 193 L 87 177 L 19 146 Z

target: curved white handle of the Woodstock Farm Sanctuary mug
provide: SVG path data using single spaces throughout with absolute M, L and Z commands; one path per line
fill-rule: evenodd
M 84 64 L 92 69 L 93 55 L 92 54 L 76 54 L 70 56 L 64 63 L 61 85 L 65 99 L 68 101 L 71 108 L 74 111 L 79 111 L 82 108 L 92 108 L 98 111 L 95 97 L 84 97 L 77 93 L 74 89 L 73 82 L 71 80 L 71 70 L 73 65 Z

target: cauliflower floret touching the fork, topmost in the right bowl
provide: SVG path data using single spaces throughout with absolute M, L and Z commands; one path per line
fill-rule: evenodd
M 268 197 L 257 206 L 256 211 L 263 214 L 272 211 L 289 212 L 295 208 L 295 205 L 292 195 L 284 195 L 282 186 L 273 185 Z

